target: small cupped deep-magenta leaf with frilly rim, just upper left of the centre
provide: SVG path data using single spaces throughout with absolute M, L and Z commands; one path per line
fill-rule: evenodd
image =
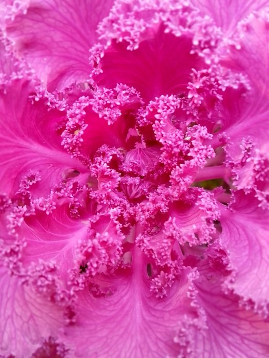
M 107 149 L 128 146 L 132 137 L 129 129 L 135 125 L 141 104 L 134 88 L 122 84 L 113 89 L 97 89 L 92 98 L 80 97 L 67 113 L 62 144 L 72 155 L 86 161 L 92 160 L 103 145 Z

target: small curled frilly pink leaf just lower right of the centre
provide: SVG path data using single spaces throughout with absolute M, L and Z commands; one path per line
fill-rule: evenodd
M 196 189 L 185 193 L 184 199 L 171 203 L 168 210 L 163 210 L 165 214 L 162 216 L 158 213 L 158 206 L 155 212 L 150 212 L 150 216 L 142 212 L 145 207 L 141 205 L 138 215 L 142 215 L 138 221 L 142 223 L 146 218 L 147 231 L 139 236 L 137 242 L 157 262 L 164 263 L 164 258 L 171 258 L 173 250 L 184 253 L 184 247 L 208 244 L 215 237 L 214 221 L 220 216 L 217 202 L 212 193 Z M 149 204 L 153 207 L 154 202 L 149 201 Z M 153 213 L 155 220 L 150 218 Z

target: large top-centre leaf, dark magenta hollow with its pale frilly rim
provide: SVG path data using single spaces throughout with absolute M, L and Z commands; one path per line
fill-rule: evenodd
M 193 69 L 208 68 L 219 35 L 208 18 L 197 16 L 179 1 L 117 1 L 99 25 L 105 44 L 91 50 L 93 80 L 109 88 L 133 86 L 146 102 L 185 95 Z

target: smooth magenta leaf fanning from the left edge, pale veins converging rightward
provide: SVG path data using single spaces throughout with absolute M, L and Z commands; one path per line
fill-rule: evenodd
M 16 79 L 0 94 L 0 190 L 14 194 L 32 186 L 39 197 L 65 178 L 67 169 L 85 170 L 61 147 L 65 116 L 48 111 L 44 100 L 31 103 L 34 86 Z M 26 184 L 26 182 L 28 184 Z

